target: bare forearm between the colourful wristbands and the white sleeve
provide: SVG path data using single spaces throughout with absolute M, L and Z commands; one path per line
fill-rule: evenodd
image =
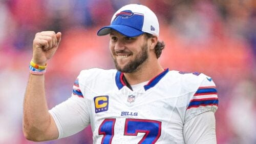
M 24 98 L 23 131 L 29 140 L 56 139 L 54 121 L 48 112 L 44 75 L 30 74 Z M 54 126 L 53 126 L 54 127 Z

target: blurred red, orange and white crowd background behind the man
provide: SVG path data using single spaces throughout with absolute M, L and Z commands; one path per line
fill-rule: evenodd
M 0 143 L 35 143 L 22 133 L 23 98 L 36 32 L 62 33 L 49 60 L 49 108 L 71 96 L 80 70 L 114 68 L 109 36 L 97 30 L 110 24 L 121 6 L 140 3 L 157 14 L 159 60 L 164 68 L 202 72 L 218 89 L 217 141 L 256 143 L 256 1 L 253 0 L 0 0 Z M 39 143 L 92 143 L 90 127 L 59 140 Z

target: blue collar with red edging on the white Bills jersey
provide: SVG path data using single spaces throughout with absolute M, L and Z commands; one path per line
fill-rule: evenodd
M 154 87 L 154 86 L 158 83 L 158 81 L 159 81 L 161 78 L 163 78 L 166 73 L 168 73 L 168 71 L 169 71 L 169 69 L 167 68 L 167 69 L 165 69 L 163 72 L 161 72 L 160 74 L 158 74 L 156 77 L 152 78 L 152 79 L 147 83 L 147 85 L 144 86 L 144 90 L 146 91 L 146 90 L 148 90 L 148 89 Z M 126 81 L 125 81 L 125 77 L 124 77 L 124 75 L 123 75 L 123 72 L 117 71 L 115 79 L 116 79 L 116 86 L 118 87 L 119 90 L 120 90 L 122 87 L 129 85 L 129 84 L 127 84 Z

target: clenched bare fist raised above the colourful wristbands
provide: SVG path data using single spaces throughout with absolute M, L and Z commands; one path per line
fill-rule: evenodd
M 54 31 L 42 31 L 35 35 L 33 40 L 32 61 L 40 66 L 44 66 L 56 52 L 61 39 L 61 33 Z

